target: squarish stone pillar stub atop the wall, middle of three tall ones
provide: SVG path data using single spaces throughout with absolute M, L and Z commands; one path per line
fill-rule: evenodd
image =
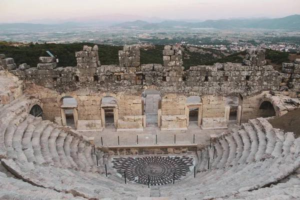
M 139 66 L 140 53 L 138 45 L 124 45 L 118 51 L 120 66 Z

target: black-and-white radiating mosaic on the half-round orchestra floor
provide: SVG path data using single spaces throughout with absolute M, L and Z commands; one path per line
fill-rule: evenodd
M 162 185 L 186 176 L 193 167 L 190 156 L 144 156 L 113 158 L 113 168 L 126 179 L 142 184 Z

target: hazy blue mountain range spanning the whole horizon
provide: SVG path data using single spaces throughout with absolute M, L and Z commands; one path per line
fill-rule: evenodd
M 110 16 L 110 15 L 109 15 Z M 200 22 L 190 22 L 184 20 L 163 20 L 161 18 L 148 18 L 146 20 L 126 21 L 122 23 L 116 22 L 120 15 L 115 15 L 109 18 L 107 15 L 102 15 L 102 18 L 97 18 L 94 21 L 86 19 L 64 22 L 59 24 L 43 24 L 43 23 L 0 23 L 0 30 L 7 29 L 47 29 L 47 28 L 80 28 L 88 25 L 108 26 L 112 28 L 127 28 L 127 29 L 159 29 L 159 28 L 216 28 L 216 29 L 231 29 L 231 28 L 265 28 L 265 29 L 300 29 L 300 15 L 290 15 L 283 18 L 234 18 L 234 19 L 218 19 L 205 20 Z M 131 15 L 130 15 L 131 16 Z M 133 17 L 133 15 L 132 15 Z M 134 16 L 136 17 L 136 16 Z M 88 22 L 84 22 L 84 21 Z M 101 21 L 101 22 L 100 22 Z M 160 21 L 160 22 L 153 22 Z M 193 20 L 195 21 L 195 20 Z M 111 25 L 115 24 L 115 25 Z M 109 26 L 110 25 L 110 26 Z

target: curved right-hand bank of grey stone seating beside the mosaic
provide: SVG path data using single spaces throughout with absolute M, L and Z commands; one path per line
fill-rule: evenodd
M 207 170 L 213 148 L 216 156 Z M 272 128 L 265 118 L 251 119 L 241 129 L 223 133 L 212 149 L 202 148 L 196 178 L 159 186 L 160 196 L 176 193 L 174 199 L 222 198 L 265 187 L 297 169 L 299 153 L 300 138 Z

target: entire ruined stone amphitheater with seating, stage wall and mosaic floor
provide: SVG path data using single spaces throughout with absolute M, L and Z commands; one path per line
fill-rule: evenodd
M 298 199 L 300 138 L 270 118 L 299 107 L 300 60 L 281 71 L 264 49 L 242 63 L 183 70 L 138 45 L 101 65 L 37 66 L 0 54 L 0 199 Z

